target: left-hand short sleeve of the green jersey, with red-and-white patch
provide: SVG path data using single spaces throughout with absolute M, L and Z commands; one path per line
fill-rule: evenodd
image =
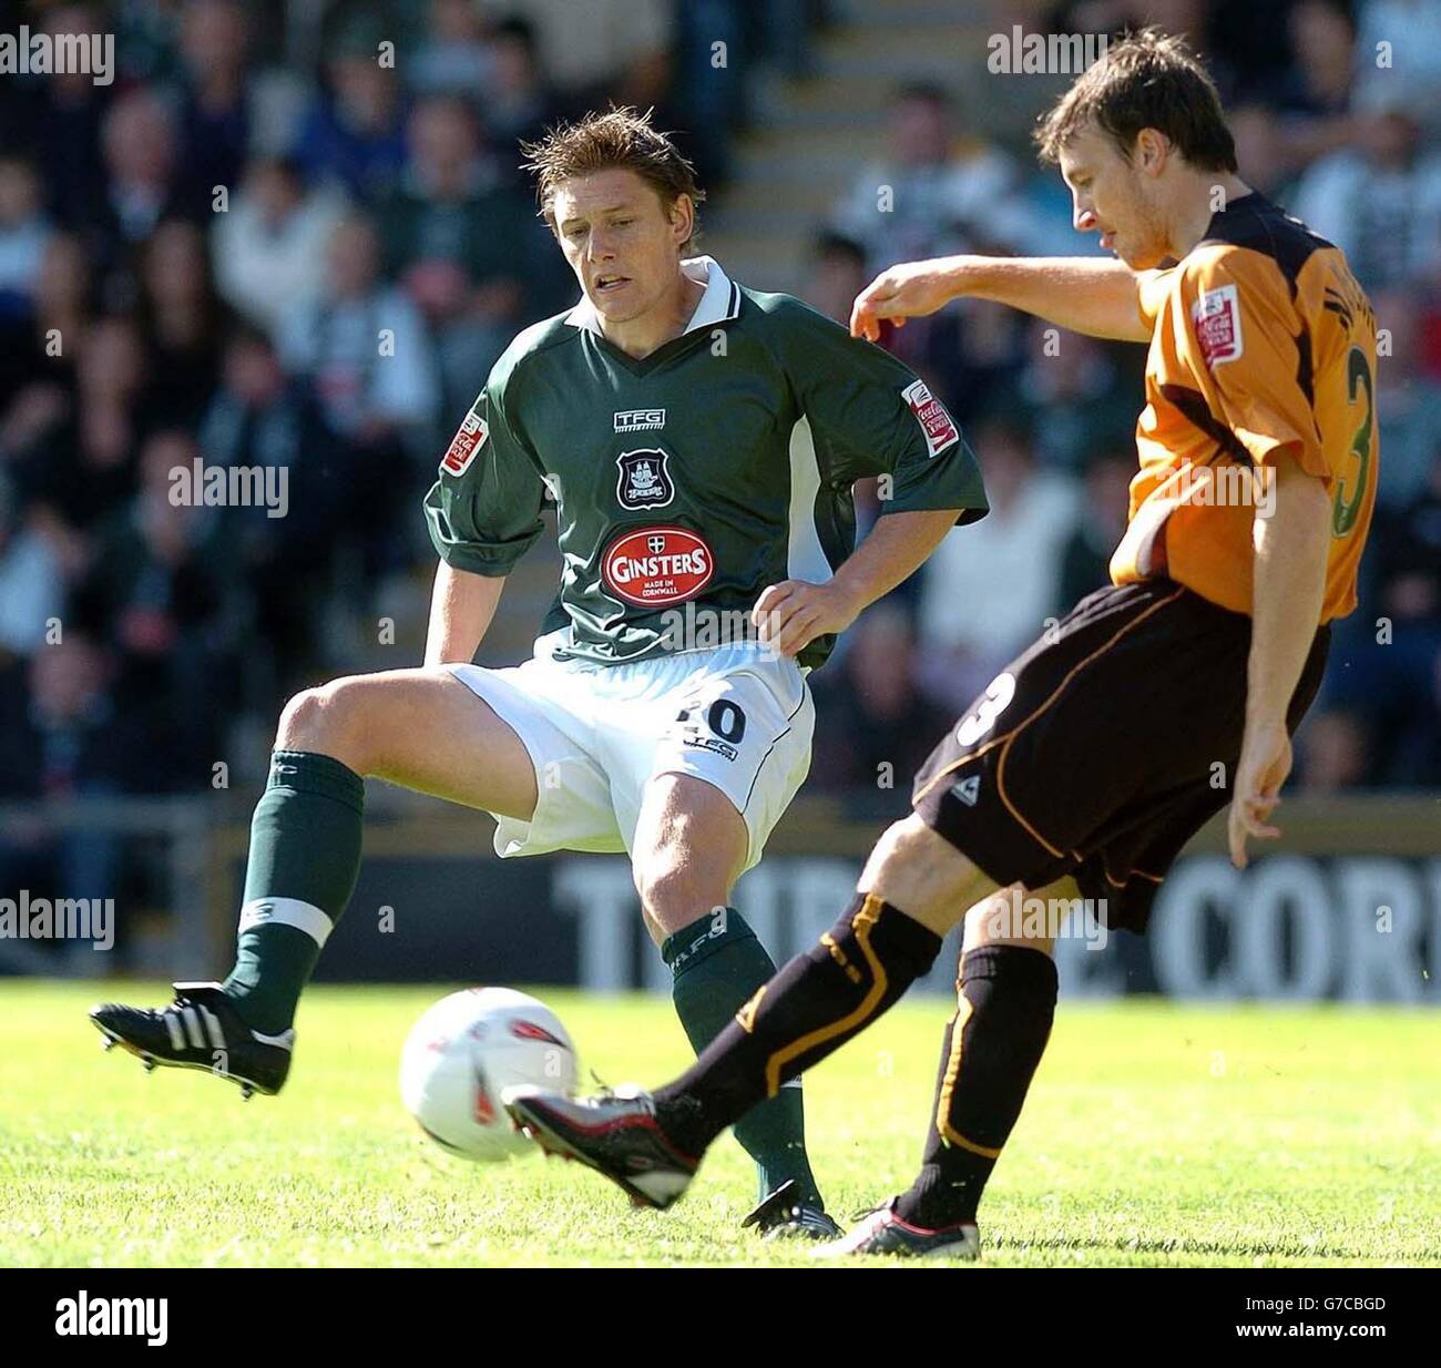
M 431 542 L 447 565 L 476 575 L 510 574 L 540 535 L 545 484 L 539 466 L 494 401 L 480 392 L 441 457 L 425 496 Z

